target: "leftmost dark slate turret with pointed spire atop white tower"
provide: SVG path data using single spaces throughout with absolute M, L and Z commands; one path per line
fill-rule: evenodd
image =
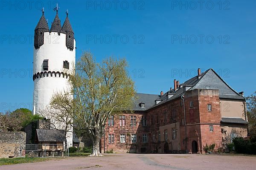
M 44 44 L 44 33 L 49 32 L 49 27 L 47 21 L 44 17 L 44 8 L 42 9 L 42 17 L 40 18 L 37 26 L 35 27 L 35 38 L 34 38 L 34 46 L 35 49 L 41 47 Z

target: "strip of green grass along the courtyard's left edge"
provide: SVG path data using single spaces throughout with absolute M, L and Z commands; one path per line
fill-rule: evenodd
M 53 159 L 63 159 L 64 157 L 59 158 L 1 158 L 0 165 L 9 165 L 9 164 L 23 164 L 23 163 L 32 163 L 32 162 L 42 162 L 49 161 Z

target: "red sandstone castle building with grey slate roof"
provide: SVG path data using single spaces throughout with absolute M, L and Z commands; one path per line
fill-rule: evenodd
M 212 69 L 160 95 L 137 94 L 133 113 L 109 116 L 101 140 L 106 150 L 123 153 L 204 153 L 247 136 L 245 98 Z

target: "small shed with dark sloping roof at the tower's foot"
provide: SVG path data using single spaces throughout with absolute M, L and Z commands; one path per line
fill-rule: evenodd
M 42 150 L 64 150 L 64 142 L 67 142 L 64 130 L 37 129 L 36 142 Z

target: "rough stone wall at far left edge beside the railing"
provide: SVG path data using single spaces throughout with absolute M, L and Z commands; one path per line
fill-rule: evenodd
M 25 132 L 0 132 L 0 158 L 25 157 Z

